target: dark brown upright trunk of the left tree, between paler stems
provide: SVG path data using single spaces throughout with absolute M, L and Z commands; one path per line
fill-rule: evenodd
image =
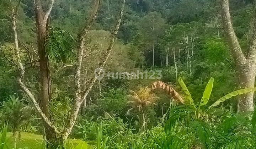
M 52 5 L 53 5 L 52 1 Z M 39 54 L 39 69 L 40 69 L 40 100 L 41 100 L 41 109 L 43 113 L 49 118 L 48 114 L 48 104 L 51 99 L 51 82 L 50 82 L 50 70 L 49 62 L 46 56 L 45 51 L 45 39 L 46 39 L 46 30 L 49 22 L 50 10 L 44 12 L 41 1 L 35 0 L 35 17 L 36 17 L 36 27 L 37 27 L 37 49 Z M 51 6 L 52 7 L 52 6 Z M 55 131 L 44 122 L 45 135 L 48 141 L 47 147 L 53 148 L 56 147 L 57 135 Z

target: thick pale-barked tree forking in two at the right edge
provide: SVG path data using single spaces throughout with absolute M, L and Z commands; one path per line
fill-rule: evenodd
M 222 10 L 223 28 L 228 39 L 228 44 L 235 61 L 236 69 L 239 72 L 240 88 L 254 87 L 256 75 L 256 1 L 253 4 L 253 14 L 251 22 L 251 35 L 247 49 L 244 52 L 238 42 L 231 22 L 229 12 L 229 0 L 220 0 Z M 239 96 L 238 111 L 246 112 L 254 110 L 253 102 L 254 93 L 246 93 Z

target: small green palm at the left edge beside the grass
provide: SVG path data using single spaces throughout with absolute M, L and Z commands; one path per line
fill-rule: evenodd
M 28 111 L 28 106 L 23 104 L 19 98 L 14 95 L 10 96 L 7 101 L 3 101 L 0 105 L 1 114 L 0 120 L 7 122 L 9 126 L 12 127 L 13 137 L 14 137 L 14 149 L 16 149 L 16 137 L 20 138 L 20 127 L 26 124 L 31 118 L 30 112 Z

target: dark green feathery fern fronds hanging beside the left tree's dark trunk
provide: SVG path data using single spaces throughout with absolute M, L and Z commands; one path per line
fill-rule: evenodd
M 69 32 L 60 28 L 48 29 L 45 50 L 48 59 L 61 60 L 63 63 L 75 62 L 75 39 Z

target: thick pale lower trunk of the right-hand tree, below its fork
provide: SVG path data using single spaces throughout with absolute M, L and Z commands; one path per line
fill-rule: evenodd
M 254 64 L 247 64 L 244 68 L 239 70 L 240 74 L 240 88 L 254 87 L 256 66 Z M 254 93 L 242 94 L 238 98 L 238 112 L 254 111 Z

